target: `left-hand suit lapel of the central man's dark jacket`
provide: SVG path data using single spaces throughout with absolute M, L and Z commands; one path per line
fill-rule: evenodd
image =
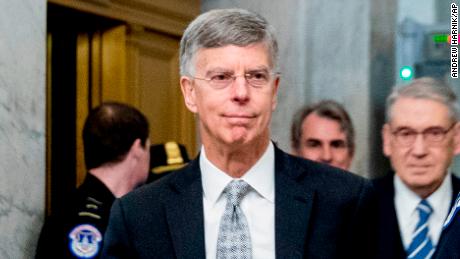
M 203 188 L 195 159 L 170 181 L 166 217 L 176 258 L 205 258 Z

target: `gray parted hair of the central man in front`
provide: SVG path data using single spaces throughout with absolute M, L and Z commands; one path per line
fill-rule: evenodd
M 265 43 L 276 69 L 278 43 L 274 28 L 261 15 L 244 9 L 217 9 L 201 14 L 193 20 L 180 42 L 180 73 L 192 75 L 192 62 L 201 48 L 218 48 L 227 45 L 240 47 Z

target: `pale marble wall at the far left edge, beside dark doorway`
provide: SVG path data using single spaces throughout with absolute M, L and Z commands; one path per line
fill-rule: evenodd
M 46 1 L 0 10 L 0 258 L 33 258 L 45 204 Z

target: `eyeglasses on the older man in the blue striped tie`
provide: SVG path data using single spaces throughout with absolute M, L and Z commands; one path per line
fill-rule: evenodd
M 439 145 L 446 137 L 446 134 L 454 128 L 456 123 L 444 129 L 442 127 L 431 127 L 422 132 L 410 128 L 403 128 L 392 132 L 396 142 L 401 146 L 411 146 L 419 134 L 422 134 L 423 140 L 431 145 Z

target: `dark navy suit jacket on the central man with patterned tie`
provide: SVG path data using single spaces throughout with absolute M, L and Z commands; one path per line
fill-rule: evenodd
M 275 148 L 276 258 L 372 258 L 373 194 L 364 178 Z M 198 159 L 114 203 L 103 255 L 205 258 Z

